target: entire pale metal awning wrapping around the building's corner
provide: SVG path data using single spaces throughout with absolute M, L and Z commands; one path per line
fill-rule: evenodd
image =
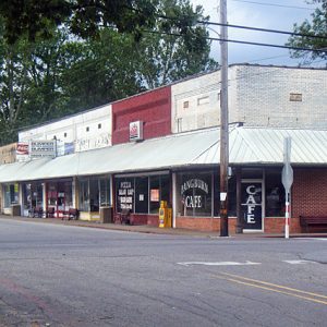
M 219 164 L 219 128 L 173 134 L 0 166 L 0 183 L 77 175 L 128 173 Z M 327 166 L 327 131 L 233 126 L 230 165 L 282 165 L 283 138 L 291 136 L 291 164 Z

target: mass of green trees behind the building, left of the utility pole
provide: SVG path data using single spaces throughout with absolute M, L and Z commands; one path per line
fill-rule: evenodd
M 63 19 L 68 20 L 66 11 L 71 12 L 72 9 L 56 5 L 74 1 L 31 0 L 23 1 L 26 2 L 25 7 L 21 2 L 0 2 L 2 15 L 5 5 L 10 12 L 14 8 L 19 12 L 17 26 L 10 29 L 8 23 L 11 15 L 0 15 L 0 144 L 16 141 L 17 131 L 22 128 L 217 68 L 217 62 L 209 58 L 210 44 L 205 26 L 196 23 L 206 17 L 203 17 L 201 7 L 193 11 L 189 0 L 165 0 L 158 3 L 75 1 L 78 5 L 82 2 L 96 2 L 97 5 L 116 3 L 114 11 L 110 13 L 111 19 L 119 15 L 123 7 L 125 16 L 117 17 L 116 27 L 110 28 L 99 28 L 97 11 L 83 11 L 81 8 L 66 24 L 61 24 Z M 37 21 L 37 21 L 35 24 L 29 17 L 21 22 L 21 12 L 29 13 L 33 5 L 39 5 L 36 12 L 52 5 L 56 13 L 53 17 L 58 15 L 59 19 L 53 21 L 47 14 Z M 125 25 L 138 12 L 136 9 L 131 11 L 130 8 L 134 5 L 142 10 L 142 15 L 132 24 L 134 27 L 137 25 L 134 29 L 140 34 L 135 31 L 132 34 L 120 33 L 119 29 L 131 28 Z M 160 13 L 157 17 L 160 17 L 148 24 L 149 19 L 144 13 L 150 16 L 154 5 Z M 77 17 L 82 20 L 83 15 L 86 15 L 85 20 L 78 21 Z M 101 23 L 106 25 L 110 17 L 101 20 Z M 96 24 L 96 28 L 87 25 L 90 22 Z M 32 25 L 24 33 L 27 23 Z M 77 26 L 74 24 L 80 26 L 80 32 L 74 29 Z M 141 26 L 150 25 L 153 29 L 147 27 L 141 31 Z M 84 38 L 72 34 L 72 28 Z M 137 35 L 142 35 L 142 38 L 135 39 Z

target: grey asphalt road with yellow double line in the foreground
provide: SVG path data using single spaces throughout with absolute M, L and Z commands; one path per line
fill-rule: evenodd
M 0 326 L 326 326 L 327 239 L 0 220 Z

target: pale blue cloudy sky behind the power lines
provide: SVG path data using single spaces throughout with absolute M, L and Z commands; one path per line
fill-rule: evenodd
M 205 10 L 205 15 L 209 15 L 211 22 L 219 23 L 219 0 L 190 0 L 190 2 L 193 5 L 201 4 Z M 294 23 L 301 24 L 306 19 L 311 20 L 314 9 L 315 5 L 306 3 L 305 0 L 227 0 L 227 19 L 232 25 L 292 32 Z M 211 25 L 210 36 L 219 37 L 219 26 Z M 289 36 L 229 28 L 228 37 L 229 39 L 284 45 Z M 229 43 L 228 47 L 230 64 L 249 62 L 294 66 L 303 63 L 303 60 L 291 59 L 288 49 L 232 43 Z M 218 62 L 220 61 L 219 53 L 219 41 L 213 41 L 211 57 Z

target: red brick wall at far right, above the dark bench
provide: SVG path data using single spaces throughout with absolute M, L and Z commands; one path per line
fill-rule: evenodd
M 292 217 L 327 215 L 327 169 L 296 168 L 292 187 Z

